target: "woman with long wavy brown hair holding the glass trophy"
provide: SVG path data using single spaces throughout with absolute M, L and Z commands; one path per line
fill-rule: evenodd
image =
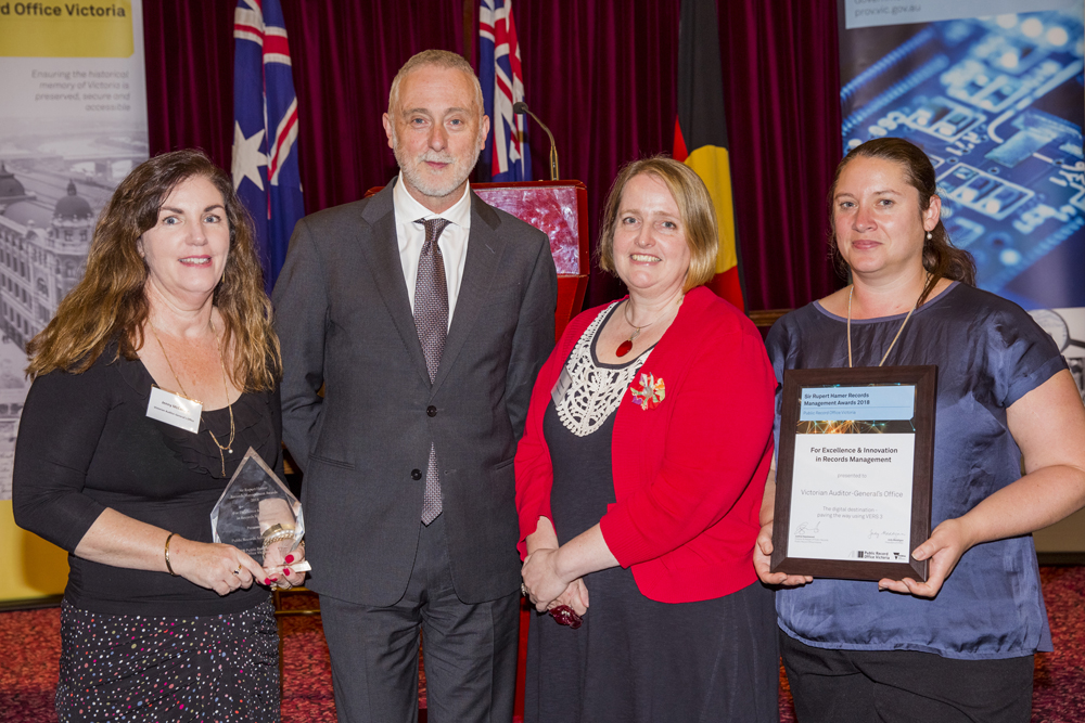
M 209 521 L 248 448 L 281 472 L 270 317 L 230 179 L 177 151 L 120 183 L 28 345 L 14 512 L 68 551 L 60 720 L 279 720 L 260 584 L 303 574 L 214 544 Z

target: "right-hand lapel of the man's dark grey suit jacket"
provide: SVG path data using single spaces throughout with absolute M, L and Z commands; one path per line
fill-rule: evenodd
M 468 255 L 463 261 L 463 279 L 456 298 L 452 324 L 445 339 L 445 350 L 441 354 L 441 365 L 433 380 L 436 392 L 448 376 L 448 370 L 463 349 L 471 328 L 474 326 L 486 301 L 486 294 L 505 253 L 505 238 L 497 233 L 501 220 L 485 202 L 471 192 L 471 233 L 468 235 Z M 403 273 L 400 273 L 403 275 Z M 421 353 L 421 346 L 419 347 Z M 423 362 L 424 363 L 424 362 Z M 429 378 L 429 377 L 426 377 Z

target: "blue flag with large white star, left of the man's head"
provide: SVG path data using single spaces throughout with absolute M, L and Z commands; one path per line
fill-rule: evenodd
M 279 0 L 240 0 L 233 38 L 233 188 L 253 217 L 270 293 L 305 216 L 297 96 Z

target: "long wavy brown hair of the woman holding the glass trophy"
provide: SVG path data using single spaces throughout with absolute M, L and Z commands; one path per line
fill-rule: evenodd
M 271 301 L 264 293 L 252 221 L 229 177 L 195 150 L 155 156 L 117 186 L 98 219 L 82 280 L 26 346 L 27 374 L 86 372 L 113 340 L 117 357 L 137 358 L 151 312 L 145 293 L 149 270 L 137 243 L 157 224 L 170 192 L 193 177 L 206 178 L 222 194 L 230 224 L 230 253 L 213 297 L 225 320 L 225 346 L 233 350 L 230 376 L 239 388 L 251 391 L 275 386 L 282 364 L 279 338 L 271 326 Z

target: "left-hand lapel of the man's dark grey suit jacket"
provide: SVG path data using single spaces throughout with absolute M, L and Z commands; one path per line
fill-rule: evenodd
M 395 180 L 384 186 L 384 190 L 373 196 L 362 209 L 361 218 L 369 224 L 370 229 L 368 238 L 363 236 L 360 246 L 369 262 L 368 267 L 376 291 L 384 300 L 392 322 L 407 348 L 407 356 L 410 357 L 422 379 L 429 385 L 430 372 L 425 369 L 425 356 L 422 353 L 422 345 L 418 340 L 418 328 L 414 326 L 414 317 L 410 310 L 403 261 L 399 258 L 396 214 L 392 203 L 392 188 L 394 185 Z M 468 260 L 470 261 L 470 255 Z M 367 313 L 367 310 L 361 310 L 360 313 Z

